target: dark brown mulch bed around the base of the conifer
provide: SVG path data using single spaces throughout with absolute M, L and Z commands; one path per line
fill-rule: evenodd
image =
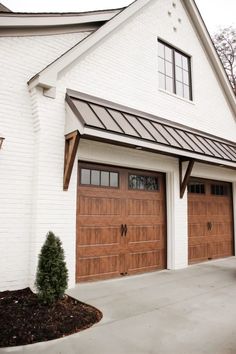
M 48 306 L 29 289 L 0 292 L 0 347 L 64 337 L 99 322 L 102 313 L 70 296 Z

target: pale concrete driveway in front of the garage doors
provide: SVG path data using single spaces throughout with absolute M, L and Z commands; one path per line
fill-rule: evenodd
M 236 353 L 235 257 L 83 284 L 69 294 L 102 310 L 102 321 L 63 339 L 0 353 Z

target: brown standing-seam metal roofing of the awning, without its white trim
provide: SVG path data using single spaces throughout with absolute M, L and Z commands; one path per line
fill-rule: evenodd
M 205 156 L 236 163 L 235 142 L 70 90 L 66 101 L 85 128 L 133 138 L 134 145 L 142 140 L 167 146 L 179 150 L 180 156 L 188 152 L 196 159 Z

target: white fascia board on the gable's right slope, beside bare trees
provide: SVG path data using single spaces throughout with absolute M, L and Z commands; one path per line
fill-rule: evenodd
M 213 66 L 213 69 L 215 70 L 219 81 L 222 85 L 222 88 L 224 90 L 224 93 L 226 97 L 228 98 L 228 101 L 230 103 L 230 107 L 234 114 L 236 115 L 236 97 L 233 93 L 233 89 L 230 85 L 230 82 L 228 80 L 227 74 L 223 68 L 223 65 L 220 61 L 220 58 L 218 54 L 216 53 L 215 47 L 213 45 L 213 42 L 211 40 L 210 34 L 206 29 L 206 26 L 201 18 L 201 15 L 195 5 L 194 0 L 182 0 L 184 7 L 187 9 L 187 13 L 190 16 L 190 19 L 192 20 L 194 27 L 196 28 L 196 31 L 198 33 L 198 36 L 200 37 L 200 40 L 202 44 L 204 45 L 204 48 L 211 60 L 211 64 Z M 236 119 L 236 116 L 235 116 Z

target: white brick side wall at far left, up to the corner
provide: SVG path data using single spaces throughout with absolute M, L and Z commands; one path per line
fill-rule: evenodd
M 39 126 L 27 81 L 84 35 L 0 38 L 0 290 L 28 286 L 29 279 L 33 132 Z

